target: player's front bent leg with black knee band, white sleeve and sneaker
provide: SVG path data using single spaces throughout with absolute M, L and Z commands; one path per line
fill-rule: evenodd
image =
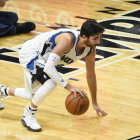
M 25 107 L 22 117 L 22 124 L 27 127 L 29 131 L 41 131 L 41 126 L 37 123 L 36 112 L 37 107 L 44 102 L 46 97 L 54 90 L 56 84 L 45 74 L 42 73 L 37 80 L 42 86 L 35 92 L 31 105 Z

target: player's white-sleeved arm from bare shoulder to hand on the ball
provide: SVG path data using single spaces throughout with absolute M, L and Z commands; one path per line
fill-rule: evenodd
M 61 87 L 69 90 L 70 92 L 74 92 L 75 96 L 76 96 L 76 92 L 79 92 L 82 96 L 83 94 L 86 95 L 85 91 L 83 91 L 78 87 L 74 87 L 70 85 L 64 79 L 62 79 L 55 68 L 57 63 L 60 61 L 62 55 L 68 52 L 69 50 L 71 50 L 71 48 L 73 47 L 74 36 L 70 33 L 62 34 L 59 37 L 59 39 L 56 39 L 56 44 L 57 45 L 49 55 L 49 58 L 44 68 L 44 72 L 46 72 L 51 77 L 51 79 L 57 84 L 59 84 Z

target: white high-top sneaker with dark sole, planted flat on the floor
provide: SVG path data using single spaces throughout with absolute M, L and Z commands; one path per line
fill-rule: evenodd
M 21 123 L 27 127 L 29 131 L 39 132 L 41 131 L 41 126 L 37 123 L 36 112 L 31 111 L 29 107 L 25 107 L 24 114 L 22 116 Z

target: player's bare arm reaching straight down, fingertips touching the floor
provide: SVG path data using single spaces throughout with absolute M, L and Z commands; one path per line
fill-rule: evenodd
M 92 105 L 96 110 L 97 114 L 102 113 L 104 116 L 107 115 L 106 112 L 100 109 L 97 103 L 97 82 L 96 82 L 96 74 L 95 74 L 95 54 L 96 50 L 92 49 L 89 56 L 85 58 L 86 62 L 86 70 L 87 70 L 87 83 L 89 86 L 89 90 L 92 98 Z

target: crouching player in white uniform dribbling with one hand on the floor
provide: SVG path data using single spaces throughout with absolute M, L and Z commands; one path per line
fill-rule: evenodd
M 62 79 L 55 66 L 71 64 L 85 57 L 87 82 L 90 89 L 92 104 L 97 114 L 107 115 L 100 109 L 96 99 L 95 54 L 96 46 L 100 43 L 104 28 L 96 20 L 87 20 L 81 31 L 70 29 L 53 30 L 36 36 L 25 42 L 19 52 L 20 64 L 24 70 L 25 88 L 0 87 L 1 97 L 18 96 L 31 100 L 25 107 L 22 124 L 29 131 L 41 131 L 35 116 L 37 107 L 45 98 L 60 85 L 69 92 L 79 92 L 87 96 L 79 87 L 74 87 Z M 41 86 L 40 86 L 41 84 Z

